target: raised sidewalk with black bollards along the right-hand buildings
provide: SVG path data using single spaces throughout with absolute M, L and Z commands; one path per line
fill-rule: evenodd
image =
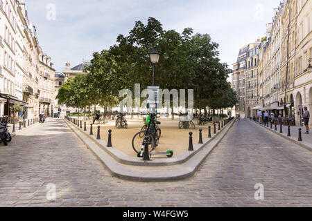
M 254 122 L 254 121 L 252 121 Z M 254 122 L 255 124 L 258 124 L 259 126 L 263 126 L 262 124 L 259 124 L 258 122 Z M 309 151 L 312 151 L 312 129 L 310 128 L 309 133 L 310 134 L 305 134 L 306 133 L 306 128 L 304 126 L 291 126 L 291 137 L 288 137 L 288 126 L 283 125 L 282 126 L 282 131 L 283 133 L 279 133 L 280 131 L 280 124 L 277 124 L 277 131 L 275 131 L 275 125 L 272 124 L 272 129 L 270 128 L 270 123 L 269 127 L 263 126 L 268 128 L 270 131 L 277 133 L 278 135 L 281 135 L 281 137 L 286 138 L 287 140 L 290 140 L 291 142 L 295 142 L 295 144 L 299 144 L 300 146 L 308 149 Z M 302 142 L 298 141 L 299 137 L 299 128 L 301 128 L 301 134 L 302 134 Z

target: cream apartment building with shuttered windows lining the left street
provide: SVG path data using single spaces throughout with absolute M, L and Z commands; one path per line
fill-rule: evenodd
M 43 54 L 24 1 L 0 0 L 0 116 L 12 117 L 10 107 L 14 104 L 24 107 L 19 113 L 24 119 L 33 118 L 39 111 L 49 114 L 53 110 L 49 105 L 40 110 L 40 96 L 53 104 L 54 93 L 55 70 L 50 58 L 42 59 Z M 50 84 L 41 85 L 44 68 L 51 79 Z

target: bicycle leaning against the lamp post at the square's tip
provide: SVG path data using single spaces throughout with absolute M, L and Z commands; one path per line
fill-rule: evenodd
M 138 153 L 138 157 L 143 157 L 145 144 L 148 144 L 149 152 L 154 151 L 158 146 L 160 135 L 162 133 L 158 127 L 159 124 L 161 123 L 157 121 L 157 115 L 154 113 L 149 114 L 146 118 L 146 125 L 144 125 L 141 128 L 141 131 L 133 137 L 132 148 L 135 153 Z

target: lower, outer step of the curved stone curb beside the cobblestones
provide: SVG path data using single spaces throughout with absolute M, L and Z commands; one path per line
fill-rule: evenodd
M 234 125 L 235 119 L 229 122 L 229 126 L 220 132 L 218 139 L 214 139 L 209 146 L 202 148 L 198 154 L 194 155 L 185 164 L 180 165 L 178 169 L 171 169 L 170 166 L 164 166 L 162 171 L 154 171 L 150 173 L 140 173 L 138 171 L 132 171 L 130 168 L 137 168 L 137 166 L 128 166 L 125 168 L 120 162 L 116 162 L 114 158 L 107 152 L 103 151 L 103 148 L 95 144 L 89 137 L 85 136 L 81 130 L 76 127 L 69 125 L 69 122 L 64 120 L 64 122 L 69 126 L 70 130 L 75 133 L 78 138 L 89 148 L 92 153 L 101 160 L 101 162 L 106 166 L 106 168 L 114 175 L 123 180 L 131 180 L 137 182 L 165 182 L 165 181 L 176 181 L 183 180 L 187 177 L 191 177 L 198 171 L 202 162 L 205 161 L 209 153 L 214 150 L 218 143 L 227 134 L 230 128 Z

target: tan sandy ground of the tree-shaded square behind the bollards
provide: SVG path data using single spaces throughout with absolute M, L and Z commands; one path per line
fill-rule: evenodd
M 106 124 L 94 124 L 93 133 L 96 135 L 97 127 L 101 126 L 101 139 L 107 141 L 108 130 L 112 130 L 112 146 L 119 149 L 123 153 L 136 157 L 137 153 L 132 148 L 132 138 L 136 133 L 141 130 L 141 127 L 144 126 L 143 119 L 130 119 L 127 117 L 128 129 L 118 129 L 115 128 L 115 121 L 109 120 Z M 199 141 L 199 129 L 202 129 L 203 139 L 208 137 L 208 126 L 211 126 L 211 133 L 213 133 L 214 128 L 213 124 L 209 123 L 205 126 L 198 126 L 197 120 L 193 120 L 196 129 L 179 129 L 180 119 L 166 119 L 161 118 L 159 122 L 162 124 L 159 126 L 162 130 L 162 136 L 159 140 L 159 145 L 155 149 L 155 152 L 166 152 L 172 150 L 174 156 L 179 155 L 180 153 L 187 151 L 189 148 L 189 132 L 193 132 L 193 145 L 198 144 Z M 89 122 L 87 122 L 87 131 L 89 132 Z M 218 125 L 216 126 L 218 132 Z

